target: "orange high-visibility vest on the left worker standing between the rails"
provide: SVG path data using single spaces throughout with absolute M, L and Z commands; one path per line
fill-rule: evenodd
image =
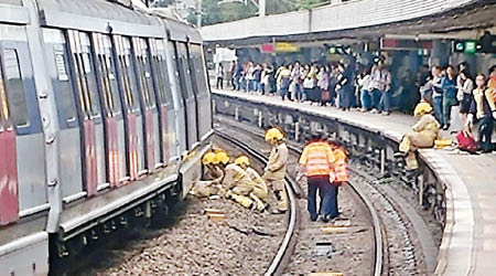
M 304 149 L 300 163 L 306 167 L 306 177 L 330 176 L 334 153 L 326 142 L 311 142 Z

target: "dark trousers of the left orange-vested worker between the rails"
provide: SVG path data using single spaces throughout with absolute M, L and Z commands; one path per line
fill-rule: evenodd
M 316 193 L 321 198 L 320 210 L 316 210 Z M 331 215 L 337 216 L 337 185 L 331 184 L 328 177 L 309 177 L 309 191 L 306 208 L 311 216 Z

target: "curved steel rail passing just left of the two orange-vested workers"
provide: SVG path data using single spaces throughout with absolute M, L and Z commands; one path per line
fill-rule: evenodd
M 245 144 L 244 141 L 231 137 L 229 135 L 223 134 L 218 130 L 215 131 L 215 134 L 225 139 L 228 140 L 237 146 L 239 146 L 242 150 L 248 152 L 250 156 L 254 156 L 258 160 L 262 162 L 267 162 L 268 158 L 263 156 L 263 153 L 252 149 L 249 145 Z M 298 200 L 295 195 L 295 191 L 298 184 L 290 179 L 289 177 L 285 177 L 285 190 L 288 192 L 288 199 L 290 201 L 290 217 L 288 227 L 284 234 L 284 238 L 282 240 L 281 245 L 279 246 L 278 253 L 276 254 L 276 257 L 270 263 L 270 266 L 267 268 L 265 275 L 281 275 L 283 273 L 283 269 L 285 267 L 285 263 L 291 257 L 292 250 L 295 244 L 296 238 L 296 231 L 298 231 L 298 222 L 300 212 L 298 210 Z

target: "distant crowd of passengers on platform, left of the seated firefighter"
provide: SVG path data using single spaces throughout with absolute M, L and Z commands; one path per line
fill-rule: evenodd
M 272 64 L 233 62 L 231 87 L 249 93 L 279 94 L 282 99 L 333 105 L 343 110 L 381 112 L 391 108 L 391 74 L 382 62 L 348 66 L 341 62 Z

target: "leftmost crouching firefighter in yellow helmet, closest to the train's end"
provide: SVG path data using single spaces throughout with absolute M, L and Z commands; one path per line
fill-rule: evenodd
M 217 155 L 213 151 L 206 152 L 202 158 L 204 173 L 202 180 L 197 181 L 191 193 L 196 197 L 211 197 L 217 194 L 220 190 L 220 183 L 224 178 L 223 166 Z

